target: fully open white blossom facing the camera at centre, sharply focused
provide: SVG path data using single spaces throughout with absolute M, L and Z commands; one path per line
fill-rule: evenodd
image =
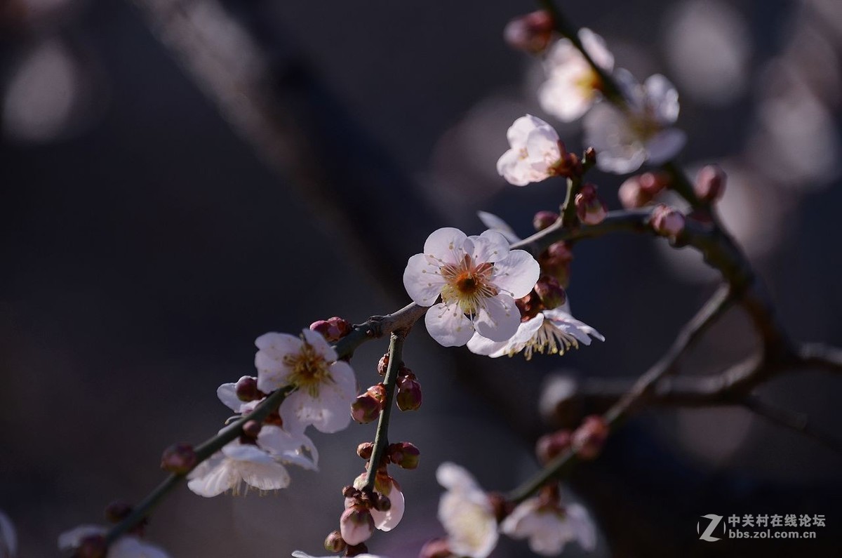
M 535 287 L 539 271 L 529 252 L 510 250 L 500 233 L 469 237 L 440 228 L 423 254 L 409 258 L 403 285 L 415 303 L 432 306 L 425 317 L 429 335 L 441 345 L 462 346 L 474 330 L 493 341 L 514 335 L 520 324 L 514 298 Z

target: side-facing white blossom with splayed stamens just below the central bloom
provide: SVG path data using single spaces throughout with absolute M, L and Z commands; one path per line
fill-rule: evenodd
M 507 341 L 491 341 L 475 333 L 468 341 L 468 349 L 492 358 L 513 357 L 523 351 L 526 360 L 530 360 L 535 352 L 563 355 L 571 347 L 578 349 L 579 343 L 590 345 L 589 335 L 605 341 L 599 331 L 573 318 L 568 301 L 556 309 L 541 310 L 535 317 L 522 321 L 517 332 Z

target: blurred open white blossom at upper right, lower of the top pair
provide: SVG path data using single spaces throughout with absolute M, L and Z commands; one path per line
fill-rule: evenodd
M 684 147 L 683 131 L 670 127 L 679 115 L 679 94 L 660 74 L 642 85 L 626 71 L 616 72 L 626 107 L 594 106 L 584 119 L 584 141 L 597 152 L 601 170 L 626 174 L 644 162 L 662 164 Z

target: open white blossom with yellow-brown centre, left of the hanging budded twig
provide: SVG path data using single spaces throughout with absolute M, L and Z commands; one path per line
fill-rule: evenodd
M 322 335 L 305 329 L 301 337 L 284 333 L 260 335 L 254 365 L 258 389 L 268 394 L 286 385 L 296 386 L 280 405 L 284 424 L 312 425 L 321 432 L 338 432 L 348 426 L 349 406 L 357 396 L 354 370 L 338 361 Z

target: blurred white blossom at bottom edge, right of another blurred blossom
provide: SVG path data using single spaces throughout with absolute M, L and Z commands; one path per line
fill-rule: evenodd
M 544 556 L 561 554 L 573 540 L 589 552 L 596 546 L 594 523 L 578 504 L 561 507 L 530 498 L 500 523 L 500 531 L 514 539 L 528 538 L 530 549 Z

